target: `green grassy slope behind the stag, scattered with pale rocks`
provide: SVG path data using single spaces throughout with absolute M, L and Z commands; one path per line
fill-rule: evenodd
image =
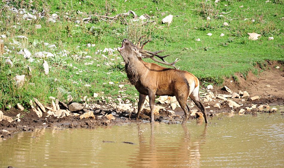
M 95 52 L 104 48 L 117 48 L 121 46 L 123 38 L 136 41 L 139 36 L 144 34 L 152 39 L 145 49 L 166 50 L 164 54 L 171 54 L 167 57 L 167 61 L 173 61 L 176 57 L 180 58 L 181 61 L 176 66 L 193 73 L 204 84 L 220 85 L 224 78 L 234 77 L 236 72 L 247 74 L 248 71 L 252 71 L 257 74 L 256 64 L 265 69 L 265 60 L 284 61 L 284 21 L 281 20 L 284 12 L 283 1 L 272 2 L 224 0 L 215 4 L 213 1 L 186 1 L 184 3 L 177 0 L 129 0 L 124 3 L 122 0 L 84 0 L 79 4 L 79 1 L 54 0 L 33 1 L 33 6 L 30 7 L 27 0 L 15 0 L 12 3 L 16 8 L 31 8 L 39 11 L 45 9 L 46 13 L 50 15 L 57 12 L 60 19 L 56 23 L 48 23 L 46 18 L 26 21 L 11 13 L 7 8 L 0 10 L 3 16 L 0 19 L 3 22 L 0 25 L 0 34 L 7 35 L 8 38 L 4 39 L 4 44 L 12 51 L 4 57 L 10 56 L 11 60 L 16 63 L 10 68 L 8 64 L 4 63 L 5 59 L 0 58 L 0 108 L 7 107 L 7 105 L 14 106 L 16 103 L 28 106 L 27 102 L 33 97 L 43 103 L 50 103 L 49 96 L 64 101 L 68 94 L 71 94 L 77 102 L 80 102 L 84 96 L 91 97 L 94 92 L 104 97 L 116 96 L 120 94 L 118 93 L 118 84 L 126 84 L 123 88 L 126 92 L 123 94 L 128 97 L 124 99 L 135 101 L 137 97 L 134 94 L 137 91 L 133 86 L 127 84 L 126 74 L 120 64 L 123 60 L 117 59 L 117 57 L 121 58 L 119 53 L 114 52 L 116 55 L 105 54 L 110 59 L 114 59 L 106 60 L 101 54 L 96 55 Z M 0 4 L 4 5 L 3 2 Z M 243 8 L 239 7 L 241 5 Z M 156 10 L 156 7 L 159 11 Z M 74 23 L 75 20 L 88 17 L 88 15 L 77 14 L 78 10 L 87 14 L 97 12 L 105 15 L 108 13 L 109 16 L 133 10 L 138 16 L 149 15 L 151 17 L 149 20 L 154 20 L 156 24 L 137 25 L 136 22 L 130 21 L 133 18 L 130 15 L 125 17 L 129 25 L 123 24 L 123 19 L 108 23 L 92 17 L 90 23 L 81 23 L 77 27 Z M 161 13 L 166 11 L 168 12 L 162 16 Z M 233 20 L 225 19 L 219 14 L 229 11 L 231 12 L 223 15 Z M 70 19 L 64 17 L 65 13 L 68 13 Z M 161 24 L 161 19 L 168 14 L 182 16 L 174 17 L 168 27 Z M 211 20 L 207 20 L 207 16 L 210 16 Z M 244 21 L 245 18 L 250 19 Z M 255 22 L 252 22 L 252 19 Z M 21 24 L 16 24 L 18 22 Z M 224 22 L 227 22 L 229 26 L 223 26 Z M 41 24 L 42 28 L 35 29 L 35 24 Z M 13 25 L 17 25 L 17 28 L 13 28 Z M 92 26 L 96 28 L 96 33 L 89 31 Z M 164 26 L 164 28 L 158 28 L 159 26 Z M 251 41 L 248 40 L 248 32 L 256 32 L 262 36 L 259 40 Z M 207 36 L 207 33 L 213 35 Z M 224 33 L 225 36 L 220 37 L 221 33 Z M 18 35 L 25 35 L 28 40 L 15 38 Z M 268 41 L 268 37 L 271 36 L 274 37 L 274 40 Z M 200 38 L 201 41 L 197 42 L 195 40 L 197 38 Z M 9 44 L 9 42 L 13 42 L 13 39 L 22 43 L 22 47 L 13 49 L 13 45 Z M 43 43 L 33 46 L 35 39 L 39 42 L 55 44 L 57 49 L 55 51 L 48 49 Z M 96 44 L 96 46 L 87 48 L 85 46 L 87 43 Z M 77 46 L 80 48 L 76 48 Z M 66 63 L 64 63 L 64 57 L 60 57 L 59 63 L 53 65 L 51 64 L 54 61 L 45 59 L 51 69 L 49 75 L 44 75 L 42 60 L 36 59 L 30 63 L 22 55 L 16 54 L 23 48 L 27 48 L 32 54 L 42 51 L 57 53 L 63 49 L 70 53 L 68 59 L 65 60 Z M 76 60 L 72 58 L 74 52 L 83 57 L 90 55 L 92 58 Z M 87 52 L 87 54 L 82 52 Z M 94 61 L 93 65 L 84 65 L 85 62 L 91 61 Z M 146 61 L 152 62 L 152 60 Z M 105 62 L 112 62 L 114 65 L 106 66 Z M 58 65 L 60 63 L 62 65 Z M 73 64 L 72 67 L 70 63 Z M 97 64 L 100 66 L 97 67 Z M 27 65 L 33 69 L 30 75 Z M 74 69 L 74 66 L 78 69 Z M 107 74 L 107 72 L 112 73 Z M 26 75 L 24 86 L 22 88 L 15 87 L 13 77 L 23 74 Z M 115 82 L 115 84 L 109 85 L 109 81 Z M 85 87 L 85 84 L 90 84 L 91 87 Z

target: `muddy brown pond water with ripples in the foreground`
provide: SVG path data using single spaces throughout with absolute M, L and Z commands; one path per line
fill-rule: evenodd
M 186 127 L 156 122 L 36 129 L 0 140 L 0 167 L 284 167 L 280 111 L 220 113 L 208 125 L 190 121 Z

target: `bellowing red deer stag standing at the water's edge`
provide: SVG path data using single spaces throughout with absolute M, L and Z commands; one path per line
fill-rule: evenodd
M 175 96 L 178 100 L 179 105 L 184 111 L 184 119 L 181 123 L 184 125 L 187 121 L 187 117 L 190 115 L 190 107 L 187 105 L 187 98 L 189 96 L 201 110 L 205 123 L 207 123 L 205 108 L 201 104 L 199 97 L 198 78 L 187 71 L 176 69 L 175 63 L 179 60 L 176 59 L 172 63 L 165 61 L 164 57 L 167 57 L 168 55 L 158 55 L 158 53 L 163 52 L 163 50 L 157 52 L 144 50 L 145 44 L 150 40 L 143 40 L 140 43 L 141 38 L 137 46 L 128 39 L 124 39 L 122 41 L 122 47 L 118 47 L 117 49 L 125 62 L 125 71 L 130 83 L 133 84 L 139 92 L 138 113 L 136 119 L 139 119 L 142 105 L 148 95 L 151 109 L 150 122 L 154 122 L 155 96 L 167 95 Z M 154 56 L 160 58 L 162 61 L 155 59 Z M 165 68 L 155 63 L 147 63 L 144 62 L 142 58 L 151 58 L 158 63 L 172 66 L 175 69 Z

